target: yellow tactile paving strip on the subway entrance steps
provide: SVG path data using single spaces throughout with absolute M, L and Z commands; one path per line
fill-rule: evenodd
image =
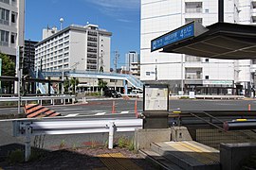
M 213 164 L 218 161 L 212 159 L 212 156 L 209 153 L 205 153 L 202 150 L 195 148 L 189 144 L 184 144 L 182 142 L 175 142 L 172 144 L 166 143 L 174 147 L 174 149 L 183 152 L 184 154 L 194 158 L 195 160 L 203 164 Z

